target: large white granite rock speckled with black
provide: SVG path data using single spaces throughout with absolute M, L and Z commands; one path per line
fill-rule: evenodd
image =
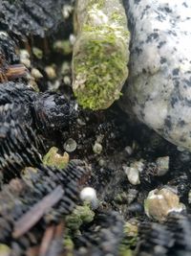
M 191 1 L 125 2 L 132 44 L 123 108 L 191 151 Z

